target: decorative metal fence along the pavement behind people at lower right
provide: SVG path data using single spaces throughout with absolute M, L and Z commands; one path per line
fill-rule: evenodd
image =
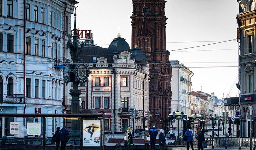
M 212 142 L 213 140 L 213 142 Z M 205 138 L 207 147 L 234 147 L 241 149 L 250 148 L 250 138 L 249 137 L 216 137 L 216 138 Z M 193 138 L 193 145 L 197 147 L 197 140 Z M 187 146 L 187 142 L 183 140 L 182 137 L 175 138 L 175 146 Z M 255 137 L 252 138 L 252 147 L 256 147 Z

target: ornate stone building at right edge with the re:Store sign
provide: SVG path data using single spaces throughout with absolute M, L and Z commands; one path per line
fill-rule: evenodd
M 239 83 L 240 83 L 240 107 L 241 107 L 241 135 L 250 136 L 250 111 L 252 106 L 252 127 L 256 125 L 256 36 L 255 36 L 255 1 L 240 0 L 239 14 L 237 18 L 237 41 L 239 42 Z M 256 130 L 252 128 L 252 136 Z

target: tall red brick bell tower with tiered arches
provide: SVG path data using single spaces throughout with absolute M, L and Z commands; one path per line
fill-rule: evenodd
M 150 125 L 164 128 L 165 118 L 172 112 L 170 53 L 166 50 L 166 20 L 164 0 L 132 0 L 132 46 L 137 44 L 147 56 L 150 65 Z

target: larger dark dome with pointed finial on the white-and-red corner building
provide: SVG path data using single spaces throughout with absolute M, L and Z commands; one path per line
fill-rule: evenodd
M 124 38 L 120 36 L 115 38 L 108 47 L 108 54 L 118 54 L 123 51 L 130 52 L 130 46 Z

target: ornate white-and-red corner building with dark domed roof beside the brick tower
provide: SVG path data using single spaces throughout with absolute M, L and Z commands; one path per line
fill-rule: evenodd
M 78 87 L 80 110 L 105 113 L 105 131 L 125 132 L 129 124 L 135 130 L 147 128 L 151 76 L 144 52 L 130 49 L 119 35 L 108 49 L 85 45 L 80 59 L 91 71 L 89 82 Z

